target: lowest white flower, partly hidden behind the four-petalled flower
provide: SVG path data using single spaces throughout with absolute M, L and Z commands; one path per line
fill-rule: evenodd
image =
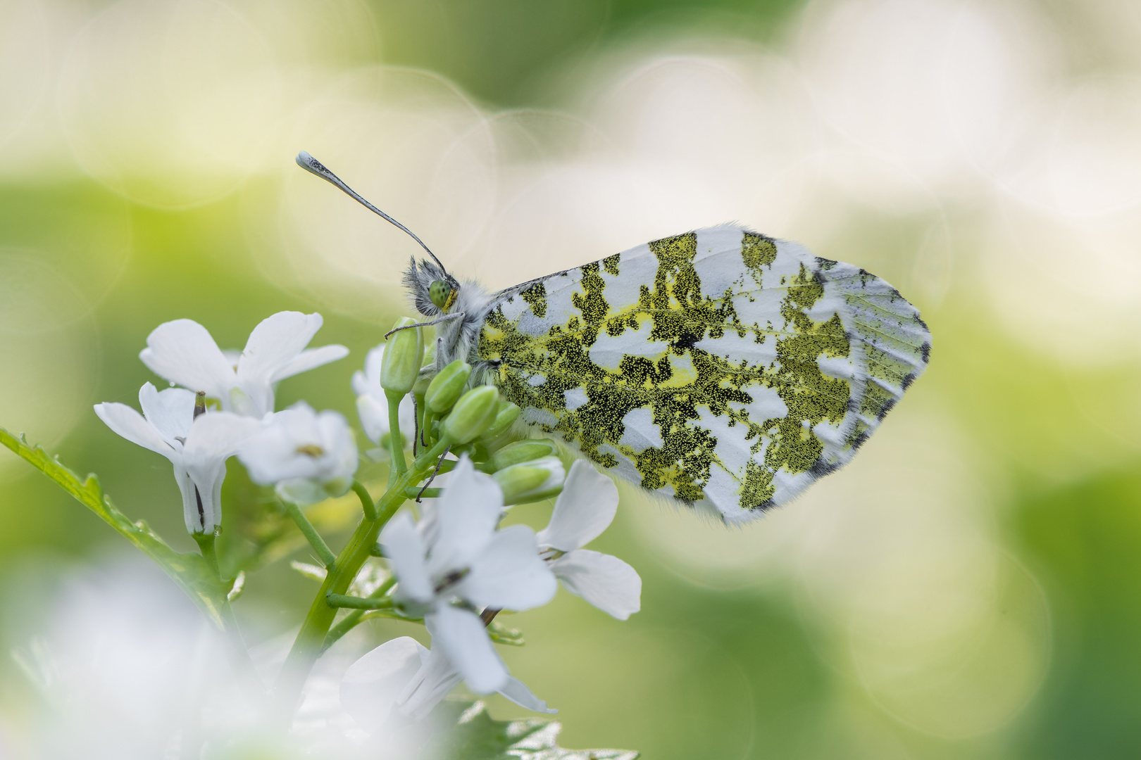
M 374 733 L 397 709 L 412 720 L 422 720 L 459 684 L 459 670 L 436 646 L 426 649 L 403 636 L 385 641 L 349 665 L 341 680 L 341 706 L 362 728 Z M 518 678 L 508 677 L 496 689 L 520 708 L 556 713 Z

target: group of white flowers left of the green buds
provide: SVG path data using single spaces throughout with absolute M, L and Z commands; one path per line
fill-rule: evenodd
M 318 418 L 305 404 L 274 414 L 278 381 L 348 356 L 343 345 L 306 348 L 322 321 L 321 314 L 278 312 L 253 328 L 241 352 L 222 351 L 191 319 L 163 322 L 147 336 L 139 359 L 183 387 L 160 392 L 146 383 L 139 391 L 141 415 L 123 403 L 96 404 L 95 414 L 111 430 L 175 465 L 186 530 L 212 534 L 221 524 L 226 459 L 235 453 L 257 482 L 282 482 L 283 497 L 292 489 L 321 500 L 309 497 L 326 483 L 334 491 L 343 484 L 341 493 L 348 489 L 357 456 L 345 418 L 337 412 Z M 221 410 L 208 409 L 207 401 Z

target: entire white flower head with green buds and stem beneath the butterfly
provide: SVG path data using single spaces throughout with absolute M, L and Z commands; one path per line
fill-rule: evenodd
M 273 488 L 321 558 L 323 567 L 300 566 L 322 581 L 324 602 L 302 623 L 280 692 L 291 679 L 304 684 L 319 652 L 354 626 L 381 615 L 422 624 L 431 647 L 394 638 L 348 668 L 341 703 L 365 730 L 423 719 L 461 681 L 477 694 L 497 692 L 529 710 L 555 712 L 511 677 L 495 641 L 521 639 L 495 618 L 547 604 L 560 581 L 618 620 L 639 610 L 638 573 L 583 548 L 614 520 L 614 483 L 585 461 L 570 464 L 553 441 L 521 438 L 519 408 L 493 386 L 474 384 L 464 361 L 437 371 L 423 326 L 405 319 L 353 377 L 361 426 L 380 447 L 367 453 L 389 471 L 374 501 L 356 480 L 359 455 L 343 416 L 305 402 L 274 408 L 277 382 L 347 356 L 340 345 L 307 348 L 321 324 L 319 314 L 274 314 L 238 353 L 219 349 L 197 322 L 165 322 L 147 337 L 140 358 L 180 387 L 159 391 L 146 383 L 141 414 L 114 402 L 97 404 L 96 414 L 171 461 L 186 528 L 203 556 L 213 556 L 226 460 L 236 456 L 254 483 Z M 364 517 L 334 555 L 306 508 L 350 489 Z M 512 505 L 550 498 L 550 524 L 537 533 L 501 524 Z M 383 569 L 370 556 L 382 557 Z M 370 573 L 374 582 L 364 581 Z M 307 644 L 322 640 L 316 649 Z

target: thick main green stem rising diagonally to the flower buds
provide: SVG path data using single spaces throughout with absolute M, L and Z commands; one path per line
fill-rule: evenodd
M 274 689 L 274 713 L 277 720 L 288 726 L 292 720 L 297 703 L 305 688 L 305 681 L 313 670 L 313 663 L 321 655 L 325 637 L 333 619 L 337 616 L 337 607 L 331 607 L 326 597 L 330 594 L 345 594 L 353 579 L 361 572 L 361 566 L 371 554 L 377 537 L 380 536 L 381 528 L 391 520 L 399 506 L 406 500 L 404 490 L 423 480 L 429 469 L 435 467 L 436 459 L 440 457 L 451 441 L 443 440 L 416 457 L 412 467 L 399 475 L 394 483 L 394 488 L 385 491 L 377 502 L 377 518 L 362 520 L 353 531 L 349 542 L 341 549 L 333 567 L 325 575 L 325 581 L 317 591 L 317 597 L 309 606 L 309 612 L 301 622 L 301 630 L 297 634 L 293 648 L 285 657 L 285 664 L 277 677 L 277 685 Z M 402 452 L 403 453 L 403 452 Z

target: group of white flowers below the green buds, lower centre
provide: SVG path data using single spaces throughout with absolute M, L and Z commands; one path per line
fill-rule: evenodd
M 463 680 L 477 694 L 497 692 L 528 710 L 556 712 L 508 673 L 486 624 L 501 610 L 547 604 L 556 579 L 618 620 L 638 612 L 638 573 L 617 557 L 580 548 L 606 530 L 617 504 L 614 483 L 576 461 L 545 529 L 537 534 L 525 525 L 500 529 L 502 490 L 461 459 L 434 508 L 415 524 L 402 513 L 381 534 L 399 579 L 394 598 L 423 615 L 431 649 L 394 639 L 366 654 L 341 685 L 346 709 L 354 716 L 367 710 L 387 716 L 396 708 L 420 719 Z M 408 662 L 419 663 L 411 675 Z M 379 711 L 377 694 L 390 697 Z

